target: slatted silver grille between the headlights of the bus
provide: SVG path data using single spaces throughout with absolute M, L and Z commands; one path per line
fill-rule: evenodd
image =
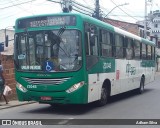
M 70 78 L 61 78 L 61 79 L 34 79 L 34 78 L 24 78 L 22 77 L 25 81 L 27 81 L 30 84 L 35 84 L 35 85 L 59 85 L 64 83 L 65 81 L 69 80 Z

